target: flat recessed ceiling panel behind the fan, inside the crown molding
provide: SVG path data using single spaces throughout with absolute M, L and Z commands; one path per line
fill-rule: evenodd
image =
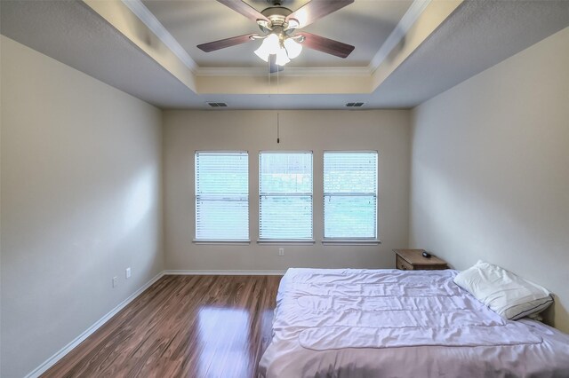
M 197 44 L 235 35 L 260 33 L 252 21 L 216 1 L 197 0 L 142 2 L 164 28 L 180 43 L 199 67 L 264 67 L 253 54 L 260 41 L 204 52 Z M 246 3 L 258 11 L 269 6 L 265 0 Z M 295 11 L 307 0 L 284 1 L 283 6 Z M 367 67 L 381 45 L 409 9 L 413 1 L 357 0 L 303 28 L 303 31 L 332 38 L 356 46 L 347 59 L 320 51 L 304 49 L 301 56 L 287 67 Z

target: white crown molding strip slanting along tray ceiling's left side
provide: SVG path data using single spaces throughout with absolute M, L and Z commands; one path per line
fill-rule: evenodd
M 193 73 L 199 68 L 197 63 L 192 59 L 188 51 L 181 47 L 180 43 L 174 38 L 164 25 L 156 19 L 156 16 L 152 14 L 146 7 L 142 4 L 140 0 L 121 0 L 128 9 L 131 10 L 136 17 L 144 23 L 144 25 L 149 28 L 152 33 L 154 33 L 161 41 L 164 43 L 173 53 L 184 63 L 186 67 L 190 69 Z

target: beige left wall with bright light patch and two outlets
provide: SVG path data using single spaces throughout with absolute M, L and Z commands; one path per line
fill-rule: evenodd
M 162 271 L 161 112 L 1 38 L 0 375 L 12 378 Z

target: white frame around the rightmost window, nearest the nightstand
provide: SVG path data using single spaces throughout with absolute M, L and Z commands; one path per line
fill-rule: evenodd
M 375 154 L 375 193 L 326 193 L 325 192 L 325 154 Z M 378 245 L 379 237 L 379 209 L 380 209 L 380 153 L 377 150 L 325 150 L 322 154 L 322 244 L 330 245 Z M 325 237 L 326 215 L 325 201 L 329 196 L 375 196 L 375 219 L 373 237 Z

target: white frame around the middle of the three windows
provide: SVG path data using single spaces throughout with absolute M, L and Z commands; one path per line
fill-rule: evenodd
M 310 224 L 311 224 L 311 237 L 307 238 L 307 239 L 262 239 L 260 237 L 260 228 L 261 228 L 261 217 L 260 217 L 260 209 L 261 209 L 261 205 L 260 205 L 260 201 L 261 201 L 261 197 L 262 196 L 267 196 L 267 195 L 275 195 L 275 196 L 285 196 L 286 194 L 284 193 L 272 193 L 272 194 L 267 194 L 267 193 L 261 193 L 261 174 L 260 174 L 260 169 L 261 169 L 261 165 L 260 165 L 260 159 L 261 159 L 261 155 L 262 154 L 310 154 L 310 177 L 311 177 L 311 191 L 309 194 L 307 193 L 295 193 L 291 196 L 295 196 L 295 197 L 300 197 L 300 196 L 309 196 L 310 197 Z M 258 244 L 293 244 L 293 245 L 311 245 L 315 243 L 315 239 L 314 239 L 314 151 L 310 151 L 310 150 L 299 150 L 299 151 L 283 151 L 283 150 L 278 150 L 278 151 L 268 151 L 268 150 L 264 150 L 264 151 L 259 151 L 259 156 L 258 156 L 258 162 L 259 162 L 259 167 L 258 167 L 258 201 L 259 201 L 259 211 L 258 211 L 258 236 L 259 239 L 257 240 Z

